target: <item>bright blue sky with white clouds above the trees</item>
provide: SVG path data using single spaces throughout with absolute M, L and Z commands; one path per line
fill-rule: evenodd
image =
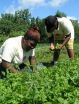
M 57 10 L 68 18 L 79 20 L 79 0 L 0 0 L 0 15 L 14 14 L 17 10 L 29 9 L 32 17 L 45 18 L 55 15 Z

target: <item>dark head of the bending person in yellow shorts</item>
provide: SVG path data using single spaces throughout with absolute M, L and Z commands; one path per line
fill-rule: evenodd
M 47 32 L 53 32 L 58 28 L 58 21 L 56 16 L 48 16 L 44 19 Z

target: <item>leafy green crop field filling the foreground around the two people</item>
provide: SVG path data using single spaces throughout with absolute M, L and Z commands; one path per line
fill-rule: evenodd
M 56 66 L 43 66 L 52 60 L 53 52 L 48 44 L 38 45 L 35 72 L 26 67 L 0 80 L 0 104 L 79 104 L 79 44 L 74 47 L 73 61 L 63 49 Z

